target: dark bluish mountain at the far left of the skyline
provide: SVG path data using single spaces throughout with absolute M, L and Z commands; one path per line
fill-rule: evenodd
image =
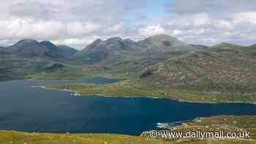
M 34 39 L 23 39 L 9 47 L 12 53 L 26 58 L 66 58 L 68 49 L 54 45 L 52 42 L 37 42 Z M 74 53 L 68 53 L 74 55 Z

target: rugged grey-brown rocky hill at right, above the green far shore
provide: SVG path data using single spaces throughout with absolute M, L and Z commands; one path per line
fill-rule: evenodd
M 162 86 L 198 88 L 201 91 L 256 91 L 256 58 L 244 48 L 214 47 L 210 52 L 192 52 L 147 67 L 141 75 Z

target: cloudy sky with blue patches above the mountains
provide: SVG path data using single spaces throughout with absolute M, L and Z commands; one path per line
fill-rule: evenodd
M 217 45 L 256 43 L 255 0 L 0 0 L 0 45 L 50 40 L 77 49 L 95 39 L 168 34 Z

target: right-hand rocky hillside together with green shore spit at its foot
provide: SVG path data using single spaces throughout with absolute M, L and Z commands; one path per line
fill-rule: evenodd
M 256 102 L 256 57 L 244 47 L 225 43 L 206 51 L 150 60 L 135 58 L 119 64 L 113 61 L 108 67 L 113 71 L 105 72 L 125 74 L 128 81 L 124 83 L 54 88 L 72 89 L 83 95 L 149 96 L 187 102 Z

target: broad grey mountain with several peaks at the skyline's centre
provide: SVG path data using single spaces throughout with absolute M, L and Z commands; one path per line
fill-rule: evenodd
M 138 72 L 142 67 L 196 50 L 198 49 L 165 34 L 138 42 L 112 37 L 105 41 L 97 39 L 87 45 L 74 61 L 105 67 L 110 72 Z

